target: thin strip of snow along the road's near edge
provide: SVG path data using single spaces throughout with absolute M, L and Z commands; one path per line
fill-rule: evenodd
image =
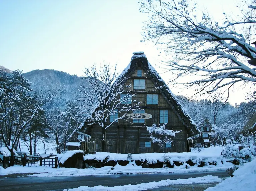
M 161 186 L 170 186 L 170 185 L 178 185 L 178 184 L 197 184 L 197 183 L 213 183 L 213 182 L 221 182 L 222 179 L 220 179 L 217 176 L 211 176 L 207 175 L 204 177 L 197 177 L 197 178 L 187 178 L 187 179 L 177 179 L 177 180 L 161 180 L 159 182 L 149 182 L 149 183 L 141 183 L 136 185 L 124 185 L 124 186 L 114 186 L 114 187 L 108 187 L 108 186 L 94 186 L 94 187 L 88 187 L 88 186 L 80 186 L 78 188 L 69 189 L 69 191 L 142 191 L 152 188 L 158 188 Z M 67 191 L 67 189 L 64 189 L 64 191 Z

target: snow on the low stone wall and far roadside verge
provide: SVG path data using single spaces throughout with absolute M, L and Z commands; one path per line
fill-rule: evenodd
M 63 154 L 62 158 L 59 156 L 60 161 L 64 162 L 72 154 L 79 151 L 67 151 Z M 107 175 L 107 174 L 131 174 L 131 173 L 185 173 L 185 172 L 203 172 L 203 171 L 216 171 L 216 170 L 226 170 L 233 166 L 232 163 L 223 160 L 220 156 L 221 147 L 205 148 L 200 153 L 145 153 L 145 154 L 133 154 L 130 160 L 147 160 L 150 163 L 163 161 L 168 157 L 168 160 L 181 161 L 184 164 L 180 166 L 174 166 L 174 168 L 142 168 L 142 166 L 137 166 L 134 161 L 130 161 L 128 165 L 121 166 L 116 164 L 112 166 L 104 166 L 101 168 L 87 168 L 87 169 L 77 169 L 77 168 L 51 168 L 42 166 L 12 166 L 6 169 L 1 169 L 1 175 L 7 175 L 12 173 L 39 173 L 30 176 L 90 176 L 90 175 Z M 127 160 L 127 154 L 116 154 L 107 152 L 97 152 L 96 154 L 88 154 L 84 156 L 84 159 L 98 159 L 104 160 L 109 156 L 108 160 Z M 193 161 L 203 159 L 205 161 L 216 161 L 217 165 L 207 164 L 203 167 L 198 167 L 197 165 L 189 166 L 185 161 L 192 159 Z M 187 168 L 186 168 L 187 167 Z M 111 169 L 112 168 L 112 169 Z

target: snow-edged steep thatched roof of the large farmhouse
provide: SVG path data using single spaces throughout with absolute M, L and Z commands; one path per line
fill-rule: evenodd
M 196 126 L 195 122 L 189 116 L 187 111 L 181 106 L 176 96 L 172 93 L 170 88 L 167 86 L 155 68 L 148 62 L 144 52 L 133 52 L 130 63 L 118 76 L 118 79 L 122 79 L 124 77 L 128 79 L 132 72 L 136 70 L 139 62 L 143 65 L 143 72 L 151 78 L 155 84 L 155 87 L 161 92 L 169 106 L 173 109 L 174 113 L 178 116 L 181 122 L 190 129 L 189 136 L 200 134 L 201 132 Z

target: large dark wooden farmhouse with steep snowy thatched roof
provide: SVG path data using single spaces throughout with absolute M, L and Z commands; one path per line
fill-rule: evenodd
M 167 147 L 165 151 L 188 152 L 188 138 L 200 134 L 200 130 L 154 67 L 148 62 L 144 52 L 134 52 L 130 63 L 120 75 L 119 79 L 124 77 L 127 79 L 123 83 L 124 87 L 129 86 L 127 91 L 136 94 L 132 100 L 140 102 L 141 110 L 139 113 L 145 113 L 143 117 L 146 119 L 118 120 L 106 129 L 104 144 L 102 144 L 102 128 L 97 123 L 89 124 L 84 120 L 79 131 L 91 136 L 91 142 L 95 142 L 94 151 L 112 153 L 163 152 L 157 143 L 151 142 L 146 126 L 167 123 L 166 129 L 182 131 L 173 137 L 174 141 L 171 145 L 165 145 Z M 124 90 L 126 89 L 124 88 Z M 126 102 L 126 104 L 133 104 L 133 102 Z M 113 117 L 118 118 L 118 116 Z M 109 123 L 110 120 L 111 118 Z

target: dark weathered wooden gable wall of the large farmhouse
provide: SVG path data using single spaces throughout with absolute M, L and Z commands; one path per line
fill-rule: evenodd
M 153 123 L 159 124 L 160 109 L 168 110 L 168 124 L 167 128 L 174 131 L 180 131 L 173 138 L 174 145 L 172 148 L 167 148 L 168 152 L 186 152 L 187 151 L 187 128 L 179 120 L 173 109 L 168 105 L 165 98 L 160 91 L 155 88 L 155 84 L 152 82 L 150 76 L 146 74 L 146 71 L 142 71 L 143 76 L 137 77 L 137 69 L 142 69 L 142 64 L 137 64 L 136 68 L 133 68 L 130 77 L 124 84 L 124 87 L 131 85 L 127 91 L 136 93 L 133 100 L 142 102 L 140 107 L 145 109 L 145 113 L 151 114 L 151 119 L 146 119 L 145 124 L 131 123 L 125 120 L 119 120 L 113 126 L 106 129 L 105 136 L 105 149 L 107 152 L 114 153 L 148 153 L 148 152 L 162 152 L 156 143 L 151 143 L 151 147 L 140 147 L 140 142 L 150 142 L 150 134 L 146 130 L 146 125 L 151 126 Z M 134 90 L 133 80 L 145 79 L 145 90 Z M 125 89 L 125 88 L 124 88 Z M 158 105 L 147 105 L 146 95 L 158 94 Z M 122 114 L 121 114 L 122 115 Z M 91 139 L 96 142 L 95 151 L 102 151 L 102 129 L 97 125 L 93 125 L 91 128 Z

